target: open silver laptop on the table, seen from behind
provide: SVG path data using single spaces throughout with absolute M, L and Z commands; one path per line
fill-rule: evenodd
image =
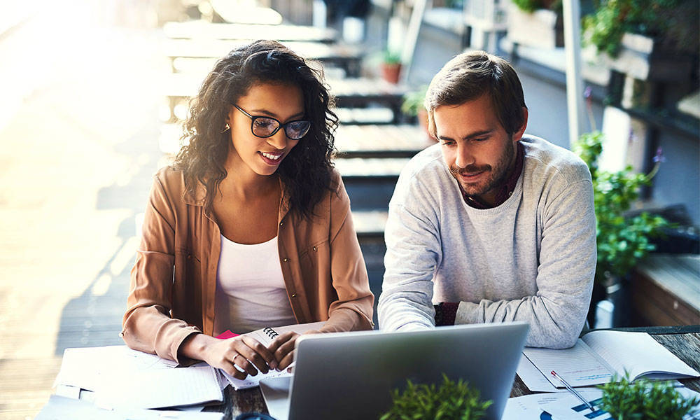
M 528 332 L 527 323 L 438 327 L 414 332 L 336 332 L 297 340 L 293 377 L 260 381 L 277 420 L 377 419 L 391 391 L 465 379 L 500 419 Z

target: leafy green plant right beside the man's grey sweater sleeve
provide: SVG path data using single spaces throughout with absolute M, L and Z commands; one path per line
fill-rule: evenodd
M 649 174 L 636 174 L 631 166 L 622 171 L 598 169 L 598 157 L 603 152 L 603 134 L 598 131 L 582 134 L 573 151 L 586 162 L 593 180 L 596 209 L 596 247 L 598 262 L 591 300 L 589 323 L 594 325 L 596 304 L 605 298 L 605 288 L 620 283 L 632 267 L 654 250 L 650 239 L 661 235 L 668 222 L 661 216 L 642 212 L 629 217 L 631 204 L 639 197 L 639 189 L 650 185 L 664 158 L 661 151 L 654 157 L 654 169 Z

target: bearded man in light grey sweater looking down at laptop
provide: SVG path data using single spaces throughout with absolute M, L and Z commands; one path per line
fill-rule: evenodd
M 439 144 L 409 162 L 389 204 L 381 329 L 526 321 L 527 346 L 572 346 L 596 267 L 589 169 L 524 135 L 520 80 L 486 52 L 445 64 L 425 105 Z

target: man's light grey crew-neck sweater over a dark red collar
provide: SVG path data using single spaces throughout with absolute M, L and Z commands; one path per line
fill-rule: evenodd
M 493 209 L 465 204 L 439 144 L 403 169 L 386 223 L 382 330 L 432 328 L 433 302 L 460 302 L 456 323 L 526 321 L 527 346 L 575 343 L 596 267 L 591 174 L 564 148 L 521 142 L 523 172 Z

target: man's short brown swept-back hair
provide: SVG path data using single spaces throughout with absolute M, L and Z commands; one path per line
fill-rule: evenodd
M 435 132 L 435 108 L 457 106 L 489 94 L 498 122 L 513 134 L 524 124 L 525 98 L 515 70 L 500 57 L 484 51 L 463 52 L 437 72 L 426 92 L 428 130 Z

